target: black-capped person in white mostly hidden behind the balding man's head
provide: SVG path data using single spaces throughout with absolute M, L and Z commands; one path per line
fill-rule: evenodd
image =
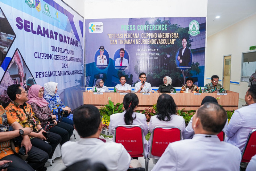
M 206 102 L 213 102 L 213 103 L 216 103 L 218 104 L 218 101 L 217 99 L 215 99 L 214 97 L 212 96 L 205 96 L 204 99 L 202 100 L 201 102 L 201 105 L 205 104 Z M 190 119 L 189 123 L 188 123 L 188 126 L 186 127 L 184 133 L 183 133 L 183 138 L 185 139 L 191 139 L 193 138 L 193 135 L 194 135 L 194 130 L 192 128 L 192 120 L 193 120 L 193 116 L 192 118 Z M 223 128 L 223 131 L 226 132 L 227 130 L 227 126 L 228 126 L 228 120 L 226 121 L 226 124 Z

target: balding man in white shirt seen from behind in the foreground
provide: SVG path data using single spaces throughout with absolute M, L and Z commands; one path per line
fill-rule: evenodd
M 193 116 L 193 138 L 170 143 L 152 171 L 239 171 L 240 150 L 217 136 L 226 120 L 227 112 L 220 105 L 203 104 Z

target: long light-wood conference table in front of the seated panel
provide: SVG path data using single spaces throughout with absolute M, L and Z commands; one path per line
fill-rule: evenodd
M 145 110 L 156 104 L 158 97 L 162 93 L 135 93 L 139 98 L 137 110 Z M 227 90 L 227 93 L 166 93 L 173 97 L 178 110 L 184 111 L 196 110 L 200 107 L 201 102 L 205 96 L 213 96 L 214 98 L 220 97 L 218 103 L 228 111 L 238 109 L 238 96 L 239 93 Z M 122 103 L 125 93 L 94 93 L 84 92 L 84 104 L 92 104 L 97 108 L 108 104 L 108 98 L 114 104 Z

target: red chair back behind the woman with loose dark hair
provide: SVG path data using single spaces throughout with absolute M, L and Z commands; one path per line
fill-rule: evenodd
M 157 126 L 154 128 L 151 140 L 151 154 L 161 157 L 169 143 L 181 140 L 181 130 L 178 127 Z

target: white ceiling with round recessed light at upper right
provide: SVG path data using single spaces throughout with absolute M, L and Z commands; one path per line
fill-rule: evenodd
M 208 0 L 207 37 L 256 14 L 256 0 Z M 217 15 L 220 18 L 215 18 Z

